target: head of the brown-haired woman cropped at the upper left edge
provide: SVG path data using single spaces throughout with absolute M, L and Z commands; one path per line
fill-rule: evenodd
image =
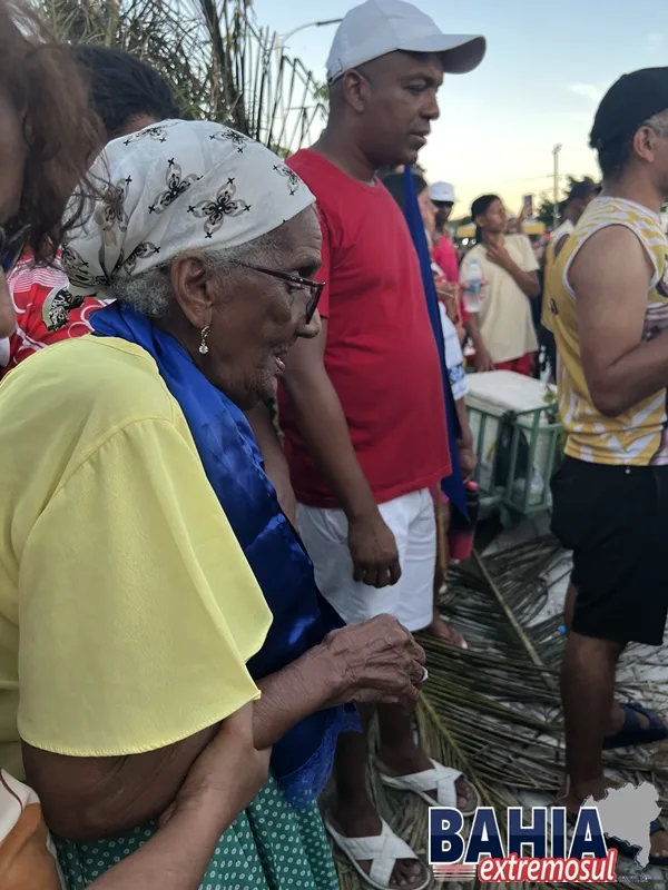
M 0 337 L 14 329 L 7 276 L 30 246 L 52 261 L 62 234 L 77 221 L 72 188 L 97 141 L 86 87 L 67 49 L 48 44 L 30 7 L 0 6 Z

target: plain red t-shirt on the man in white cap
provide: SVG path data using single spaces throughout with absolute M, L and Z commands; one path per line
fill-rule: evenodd
M 451 472 L 443 384 L 403 215 L 382 185 L 352 179 L 312 149 L 288 164 L 318 201 L 325 367 L 364 475 L 379 503 L 435 485 Z M 284 393 L 279 412 L 297 500 L 338 506 Z

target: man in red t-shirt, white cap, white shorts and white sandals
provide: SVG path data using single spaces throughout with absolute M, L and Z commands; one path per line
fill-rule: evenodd
M 418 256 L 375 171 L 416 160 L 443 72 L 472 70 L 484 48 L 483 38 L 443 34 L 400 0 L 356 7 L 327 62 L 327 126 L 288 161 L 318 201 L 327 286 L 321 335 L 287 356 L 279 419 L 299 531 L 318 586 L 348 623 L 391 613 L 418 631 L 432 620 L 429 490 L 451 469 L 441 370 Z M 387 784 L 421 787 L 434 802 L 449 785 L 464 811 L 475 807 L 475 790 L 415 744 L 411 715 L 385 703 L 379 721 Z M 424 867 L 367 794 L 365 758 L 363 736 L 341 738 L 327 829 L 375 887 L 424 887 Z

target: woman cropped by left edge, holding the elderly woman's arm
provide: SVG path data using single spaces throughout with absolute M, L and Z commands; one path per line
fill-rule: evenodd
M 67 199 L 88 167 L 97 134 L 69 49 L 59 49 L 47 41 L 33 10 L 0 0 L 0 333 L 10 332 L 14 324 L 6 276 L 28 243 L 38 263 L 52 259 L 55 245 L 67 228 L 63 225 Z M 43 265 L 36 275 L 40 270 L 43 274 Z M 17 602 L 10 590 L 3 589 L 0 595 L 0 887 L 61 890 L 56 850 L 47 834 L 38 799 L 17 778 L 22 775 L 22 768 L 16 741 L 19 694 L 16 613 Z M 91 887 L 95 890 L 198 887 L 220 833 L 266 781 L 268 758 L 268 750 L 255 749 L 253 705 L 244 705 L 223 721 L 193 763 L 161 820 L 160 830 L 141 850 L 105 872 Z M 220 787 L 226 789 L 225 794 L 217 791 Z

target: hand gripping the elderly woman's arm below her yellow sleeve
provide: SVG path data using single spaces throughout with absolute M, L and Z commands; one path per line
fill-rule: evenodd
M 240 812 L 267 780 L 272 751 L 253 744 L 253 703 L 226 718 L 186 777 L 160 824 L 177 810 L 205 807 L 215 812 Z

